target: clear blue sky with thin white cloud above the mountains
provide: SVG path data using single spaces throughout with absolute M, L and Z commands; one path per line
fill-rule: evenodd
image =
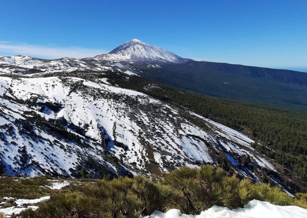
M 28 0 L 0 6 L 0 55 L 80 58 L 138 38 L 196 60 L 307 67 L 307 0 Z

